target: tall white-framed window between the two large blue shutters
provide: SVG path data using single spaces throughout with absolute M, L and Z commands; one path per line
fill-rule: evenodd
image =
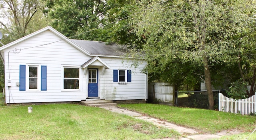
M 40 91 L 41 67 L 39 64 L 26 65 L 26 91 Z

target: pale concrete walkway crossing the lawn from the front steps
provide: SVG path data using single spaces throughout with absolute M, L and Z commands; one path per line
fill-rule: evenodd
M 128 116 L 132 116 L 137 119 L 145 120 L 148 122 L 152 122 L 156 126 L 164 127 L 164 128 L 169 128 L 169 129 L 174 129 L 180 134 L 182 134 L 184 137 L 180 138 L 180 140 L 210 140 L 213 138 L 220 138 L 221 136 L 227 136 L 227 135 L 232 135 L 232 134 L 239 134 L 241 132 L 239 131 L 223 131 L 217 134 L 198 134 L 198 132 L 194 129 L 191 128 L 185 128 L 182 126 L 177 126 L 175 124 L 169 123 L 169 122 L 164 122 L 155 118 L 151 118 L 148 116 L 143 116 L 140 113 L 133 112 L 130 110 L 126 110 L 124 108 L 118 108 L 116 106 L 100 106 L 100 108 L 104 108 L 106 110 L 110 110 L 111 112 L 116 112 L 120 114 L 126 114 Z M 173 140 L 170 138 L 165 138 L 165 139 L 154 139 L 154 140 Z

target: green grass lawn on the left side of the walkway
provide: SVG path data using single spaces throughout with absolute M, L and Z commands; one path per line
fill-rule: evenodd
M 152 140 L 178 138 L 130 116 L 79 104 L 0 106 L 1 140 Z

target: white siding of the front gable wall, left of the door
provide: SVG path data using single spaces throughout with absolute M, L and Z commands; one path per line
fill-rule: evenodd
M 59 41 L 61 40 L 61 41 Z M 59 41 L 59 42 L 56 42 Z M 56 42 L 48 44 L 50 42 Z M 42 44 L 48 44 L 40 46 Z M 35 47 L 38 46 L 38 47 Z M 34 47 L 34 48 L 30 48 Z M 17 52 L 12 52 L 12 50 Z M 19 50 L 20 48 L 24 50 Z M 65 40 L 62 40 L 51 31 L 42 32 L 28 40 L 20 42 L 6 50 L 3 57 L 5 58 L 6 79 L 12 80 L 9 87 L 12 94 L 8 94 L 6 86 L 6 103 L 26 103 L 26 102 L 70 102 L 86 99 L 86 84 L 80 85 L 77 91 L 62 91 L 62 66 L 80 67 L 84 62 L 92 57 L 87 56 L 77 50 Z M 8 53 L 10 51 L 10 53 Z M 10 62 L 8 62 L 8 54 Z M 8 66 L 8 64 L 10 64 Z M 20 91 L 16 86 L 19 82 L 19 66 L 26 64 L 40 64 L 47 66 L 47 91 Z M 10 74 L 8 67 L 10 67 Z M 80 68 L 81 69 L 81 68 Z M 81 69 L 82 70 L 82 69 Z M 28 68 L 26 68 L 26 72 Z M 82 71 L 80 72 L 83 73 Z M 27 74 L 26 74 L 27 76 Z M 40 74 L 38 75 L 40 76 Z M 83 80 L 82 78 L 81 80 Z M 86 81 L 80 81 L 81 83 Z M 28 82 L 26 82 L 27 85 Z M 28 88 L 26 88 L 27 90 Z M 39 88 L 40 89 L 40 88 Z

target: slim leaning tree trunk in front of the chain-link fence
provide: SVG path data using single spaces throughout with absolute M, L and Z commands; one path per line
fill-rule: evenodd
M 212 93 L 211 75 L 210 75 L 208 60 L 206 56 L 204 56 L 204 76 L 205 76 L 206 90 L 208 94 L 209 109 L 214 110 L 214 99 L 213 99 L 213 93 Z

